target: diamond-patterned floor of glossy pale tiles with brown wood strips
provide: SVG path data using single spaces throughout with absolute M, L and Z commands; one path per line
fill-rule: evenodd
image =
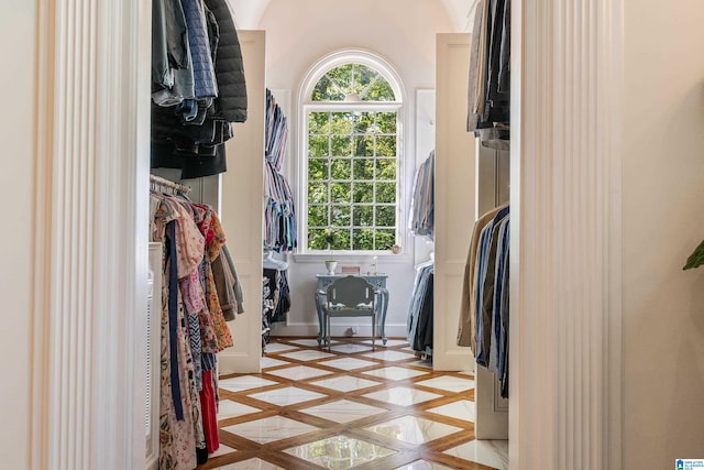
M 473 379 L 404 340 L 273 338 L 261 374 L 220 379 L 221 447 L 198 469 L 496 468 L 471 461 Z

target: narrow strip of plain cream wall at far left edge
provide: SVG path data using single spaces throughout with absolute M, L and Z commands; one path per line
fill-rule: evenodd
M 12 73 L 1 74 L 6 90 L 0 125 L 3 170 L 0 198 L 3 230 L 0 233 L 0 456 L 3 468 L 29 466 L 30 376 L 32 336 L 32 240 L 34 236 L 34 86 L 36 3 L 6 6 L 0 15 L 0 44 Z M 18 41 L 18 39 L 21 39 Z

